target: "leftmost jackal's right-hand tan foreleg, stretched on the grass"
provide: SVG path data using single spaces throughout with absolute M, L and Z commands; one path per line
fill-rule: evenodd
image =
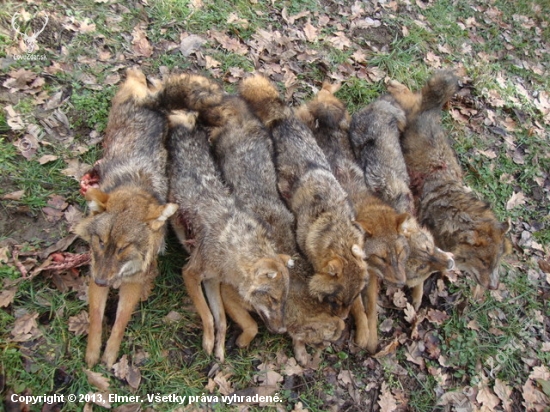
M 142 286 L 139 282 L 123 283 L 120 285 L 115 324 L 113 325 L 111 336 L 107 341 L 107 346 L 101 359 L 108 368 L 111 368 L 117 359 L 124 331 L 126 330 L 126 326 L 128 326 L 128 322 L 130 322 L 136 305 L 141 299 Z

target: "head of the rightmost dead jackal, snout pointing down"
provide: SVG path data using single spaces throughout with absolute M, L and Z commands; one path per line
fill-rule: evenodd
M 508 222 L 488 221 L 457 234 L 458 243 L 451 249 L 457 268 L 473 274 L 484 288 L 498 289 L 500 260 L 512 251 L 505 237 L 509 230 Z

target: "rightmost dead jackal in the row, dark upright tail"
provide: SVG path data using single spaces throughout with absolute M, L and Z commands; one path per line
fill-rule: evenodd
M 407 114 L 401 145 L 420 223 L 437 246 L 454 255 L 458 269 L 496 289 L 500 259 L 511 249 L 505 237 L 510 226 L 462 183 L 462 170 L 441 126 L 441 109 L 457 85 L 451 71 L 441 71 L 420 92 L 397 82 L 388 91 Z

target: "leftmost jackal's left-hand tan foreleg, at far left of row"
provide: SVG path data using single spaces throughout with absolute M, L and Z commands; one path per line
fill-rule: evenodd
M 90 326 L 88 327 L 88 345 L 86 346 L 86 363 L 90 368 L 99 361 L 103 315 L 105 314 L 105 303 L 108 295 L 108 287 L 98 286 L 90 279 L 88 286 Z

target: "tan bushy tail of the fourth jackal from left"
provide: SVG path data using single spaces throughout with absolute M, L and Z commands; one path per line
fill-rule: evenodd
M 239 92 L 252 112 L 268 127 L 290 115 L 290 109 L 281 99 L 275 85 L 264 76 L 255 75 L 245 79 Z

